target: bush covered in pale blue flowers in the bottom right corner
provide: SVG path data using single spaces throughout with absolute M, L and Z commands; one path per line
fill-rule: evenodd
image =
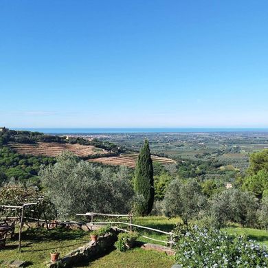
M 267 267 L 266 248 L 243 236 L 216 229 L 178 225 L 176 261 L 183 267 Z

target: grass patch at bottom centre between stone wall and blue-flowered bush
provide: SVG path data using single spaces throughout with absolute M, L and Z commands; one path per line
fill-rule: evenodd
M 110 254 L 93 260 L 87 266 L 77 267 L 91 267 L 91 268 L 170 268 L 175 263 L 175 258 L 167 256 L 164 253 L 154 252 L 152 250 L 146 251 L 144 249 L 135 248 L 127 252 L 119 252 L 114 250 Z

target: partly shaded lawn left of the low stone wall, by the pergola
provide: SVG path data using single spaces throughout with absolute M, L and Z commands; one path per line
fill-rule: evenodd
M 49 261 L 52 249 L 58 249 L 64 256 L 87 242 L 89 234 L 82 230 L 28 229 L 22 233 L 22 252 L 18 250 L 16 234 L 12 241 L 7 240 L 5 249 L 0 250 L 0 260 L 25 260 L 27 267 L 41 268 Z

